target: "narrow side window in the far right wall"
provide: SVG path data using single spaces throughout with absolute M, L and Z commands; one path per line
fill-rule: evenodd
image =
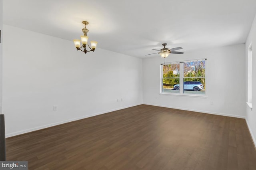
M 252 43 L 248 47 L 247 104 L 252 108 Z

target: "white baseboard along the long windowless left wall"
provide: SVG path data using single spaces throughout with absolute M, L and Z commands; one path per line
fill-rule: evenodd
M 20 135 L 20 134 L 24 134 L 24 133 L 40 130 L 40 129 L 43 129 L 43 128 L 53 127 L 53 126 L 56 126 L 56 125 L 61 125 L 61 124 L 64 124 L 64 123 L 73 122 L 73 121 L 77 121 L 77 120 L 80 120 L 80 119 L 85 119 L 85 118 L 88 118 L 88 117 L 102 115 L 102 114 L 105 114 L 105 113 L 109 113 L 109 112 L 113 112 L 113 111 L 118 111 L 118 110 L 121 110 L 121 109 L 126 109 L 128 107 L 134 107 L 134 106 L 138 106 L 138 105 L 142 105 L 142 104 L 143 103 L 139 103 L 139 104 L 136 104 L 136 105 L 129 105 L 129 106 L 125 106 L 125 107 L 118 107 L 116 109 L 111 109 L 111 110 L 104 111 L 104 112 L 94 113 L 92 115 L 86 115 L 86 116 L 83 116 L 83 117 L 77 117 L 77 118 L 69 119 L 69 120 L 66 120 L 66 121 L 60 121 L 60 122 L 51 123 L 51 124 L 48 124 L 48 125 L 43 125 L 43 126 L 39 126 L 39 127 L 29 128 L 29 129 L 26 129 L 26 130 L 20 130 L 18 132 L 12 132 L 12 133 L 6 134 L 5 136 L 6 136 L 6 138 L 9 138 L 9 137 L 12 137 L 12 136 L 17 136 L 17 135 Z

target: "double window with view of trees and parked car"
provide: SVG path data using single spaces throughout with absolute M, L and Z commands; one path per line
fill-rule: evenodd
M 206 94 L 206 59 L 164 63 L 161 68 L 161 93 Z

